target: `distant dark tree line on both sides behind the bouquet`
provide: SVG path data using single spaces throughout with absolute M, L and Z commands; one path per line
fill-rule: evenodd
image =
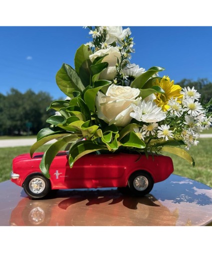
M 212 98 L 212 82 L 207 78 L 183 79 L 176 84 L 194 86 L 205 103 Z M 31 89 L 21 93 L 11 88 L 7 95 L 0 93 L 0 135 L 36 135 L 40 129 L 49 126 L 46 119 L 54 115 L 54 111 L 46 111 L 46 108 L 53 100 L 49 93 L 40 91 L 36 94 Z

